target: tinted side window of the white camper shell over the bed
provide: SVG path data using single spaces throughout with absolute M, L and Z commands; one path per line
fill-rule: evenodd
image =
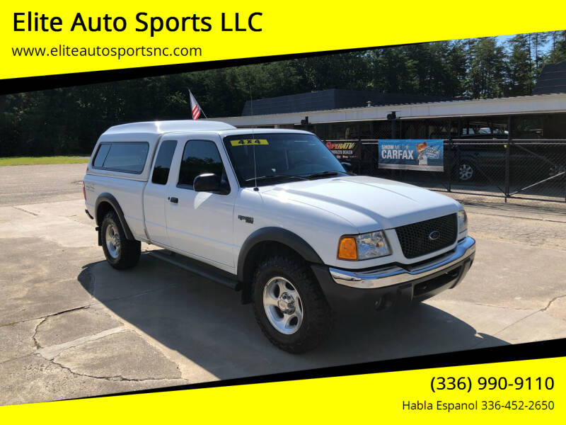
M 146 142 L 112 142 L 101 144 L 93 161 L 99 169 L 140 174 L 144 171 L 149 144 Z

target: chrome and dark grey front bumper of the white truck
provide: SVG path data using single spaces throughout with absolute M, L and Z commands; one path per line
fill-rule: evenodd
M 474 256 L 475 240 L 466 237 L 456 249 L 417 264 L 389 264 L 362 271 L 320 265 L 312 268 L 334 310 L 383 310 L 454 288 L 468 273 Z

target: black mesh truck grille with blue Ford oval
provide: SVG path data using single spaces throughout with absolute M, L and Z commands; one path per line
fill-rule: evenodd
M 403 249 L 403 255 L 408 259 L 414 259 L 454 244 L 458 234 L 458 219 L 456 214 L 444 215 L 444 217 L 397 227 L 395 232 Z

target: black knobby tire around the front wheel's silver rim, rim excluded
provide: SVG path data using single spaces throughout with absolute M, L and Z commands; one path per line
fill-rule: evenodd
M 294 334 L 282 334 L 270 323 L 263 306 L 267 282 L 281 276 L 296 288 L 303 307 L 303 319 Z M 263 334 L 277 348 L 289 353 L 304 353 L 320 344 L 334 325 L 334 314 L 308 264 L 294 256 L 270 256 L 260 262 L 252 282 L 255 319 Z

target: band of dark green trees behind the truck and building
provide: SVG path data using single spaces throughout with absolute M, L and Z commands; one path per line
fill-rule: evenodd
M 566 31 L 387 47 L 244 67 L 0 96 L 0 156 L 88 154 L 111 125 L 187 119 L 189 90 L 209 117 L 250 98 L 324 89 L 490 98 L 530 94 L 541 67 L 566 61 Z

